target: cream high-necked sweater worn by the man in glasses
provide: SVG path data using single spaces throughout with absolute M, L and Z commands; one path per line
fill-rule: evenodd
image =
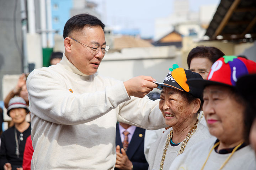
M 31 72 L 27 89 L 31 170 L 114 169 L 117 121 L 146 129 L 166 126 L 159 101 L 129 98 L 122 81 L 85 75 L 65 55 L 59 64 Z

